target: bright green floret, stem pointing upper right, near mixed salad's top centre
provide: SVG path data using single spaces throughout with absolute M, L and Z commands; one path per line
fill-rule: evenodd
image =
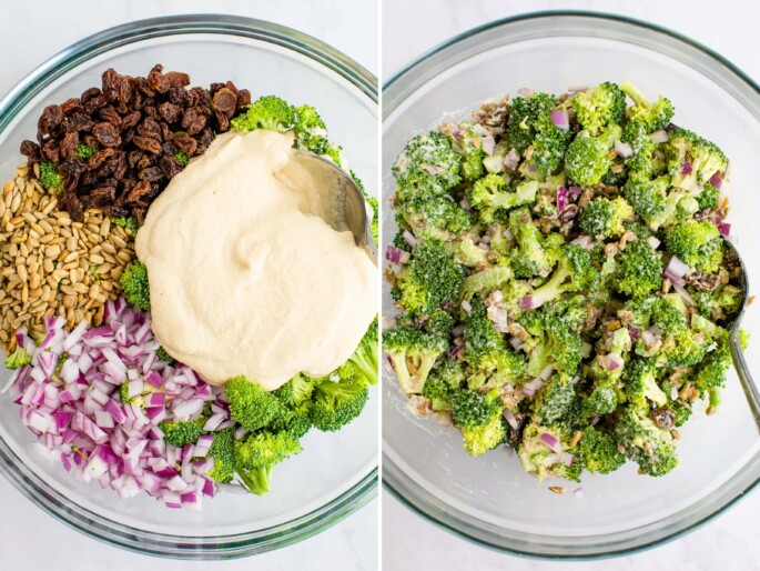
M 615 153 L 610 151 L 621 132 L 620 127 L 611 124 L 599 137 L 578 133 L 565 153 L 567 177 L 581 187 L 598 184 L 612 166 Z

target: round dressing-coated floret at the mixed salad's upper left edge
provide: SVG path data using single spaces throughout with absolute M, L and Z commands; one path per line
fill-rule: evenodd
M 417 193 L 443 197 L 459 183 L 462 158 L 440 133 L 418 134 L 412 139 L 393 164 L 401 199 Z

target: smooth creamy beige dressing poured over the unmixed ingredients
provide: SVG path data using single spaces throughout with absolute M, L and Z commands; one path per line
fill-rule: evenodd
M 138 233 L 155 337 L 214 384 L 244 374 L 274 390 L 327 374 L 377 313 L 375 266 L 351 232 L 311 213 L 324 209 L 287 168 L 292 143 L 265 130 L 217 137 Z

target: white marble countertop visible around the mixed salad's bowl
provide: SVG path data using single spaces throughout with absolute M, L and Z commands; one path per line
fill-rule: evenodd
M 448 38 L 490 20 L 539 10 L 611 11 L 673 29 L 718 51 L 760 80 L 760 4 L 730 0 L 383 0 L 383 78 Z M 719 18 L 719 19 L 718 19 Z M 490 551 L 426 522 L 383 492 L 383 568 L 424 570 L 760 570 L 760 493 L 698 531 L 639 554 L 598 562 L 546 562 Z

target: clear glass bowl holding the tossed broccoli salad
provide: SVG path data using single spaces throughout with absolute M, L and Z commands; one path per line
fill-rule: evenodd
M 519 88 L 556 93 L 604 80 L 630 80 L 663 93 L 676 121 L 722 147 L 732 164 L 732 232 L 748 274 L 760 276 L 760 202 L 753 192 L 760 148 L 758 87 L 719 56 L 649 24 L 604 14 L 550 12 L 489 23 L 429 52 L 383 91 L 383 197 L 394 192 L 391 166 L 413 134 L 442 114 L 460 119 L 477 103 Z M 383 236 L 396 233 L 386 210 Z M 383 307 L 391 311 L 388 288 Z M 760 367 L 760 319 L 746 354 Z M 678 443 L 680 467 L 662 478 L 634 464 L 610 475 L 585 474 L 585 498 L 539 488 L 505 449 L 473 459 L 454 428 L 415 419 L 393 374 L 384 372 L 383 478 L 399 500 L 434 523 L 483 545 L 539 557 L 620 554 L 675 538 L 720 513 L 760 478 L 760 438 L 736 373 L 713 417 L 695 412 Z M 563 483 L 563 482 L 555 482 Z M 551 484 L 551 482 L 549 482 Z

